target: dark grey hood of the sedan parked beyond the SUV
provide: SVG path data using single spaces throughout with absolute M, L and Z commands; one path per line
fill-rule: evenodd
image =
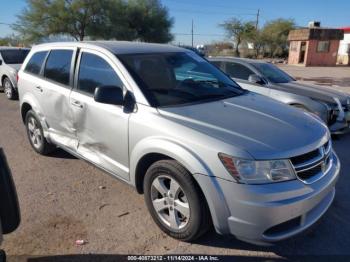
M 315 100 L 321 100 L 327 103 L 333 103 L 334 98 L 338 98 L 339 101 L 344 105 L 347 103 L 348 95 L 339 92 L 337 90 L 326 88 L 318 85 L 304 84 L 298 81 L 289 83 L 273 84 L 273 89 L 286 91 L 297 95 L 307 96 Z

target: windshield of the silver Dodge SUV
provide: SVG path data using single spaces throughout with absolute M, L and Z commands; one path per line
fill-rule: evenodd
M 118 55 L 154 107 L 203 103 L 245 91 L 193 52 Z

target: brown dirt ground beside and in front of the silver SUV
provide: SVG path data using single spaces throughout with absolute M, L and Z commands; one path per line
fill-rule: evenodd
M 342 163 L 341 177 L 335 202 L 314 231 L 269 248 L 214 232 L 195 243 L 183 243 L 161 233 L 146 210 L 143 196 L 133 188 L 63 151 L 49 157 L 34 153 L 20 119 L 18 101 L 8 101 L 0 94 L 0 112 L 0 146 L 12 168 L 22 208 L 21 226 L 5 236 L 2 248 L 9 255 L 23 255 L 20 258 L 23 261 L 28 255 L 68 254 L 73 254 L 74 261 L 88 261 L 91 254 L 192 253 L 287 258 L 350 254 L 350 135 L 334 141 Z M 100 186 L 106 188 L 99 189 Z M 88 243 L 77 247 L 77 239 Z M 14 257 L 11 259 L 14 261 Z M 60 261 L 60 257 L 50 261 Z

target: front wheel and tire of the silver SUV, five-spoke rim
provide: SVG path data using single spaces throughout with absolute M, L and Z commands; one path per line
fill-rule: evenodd
M 191 174 L 174 160 L 161 160 L 147 170 L 144 197 L 148 210 L 169 236 L 192 241 L 208 231 L 209 208 Z

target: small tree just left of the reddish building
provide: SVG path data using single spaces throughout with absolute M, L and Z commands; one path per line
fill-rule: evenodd
M 268 49 L 270 57 L 288 54 L 288 34 L 295 28 L 292 19 L 276 19 L 267 22 L 260 32 L 261 42 Z

